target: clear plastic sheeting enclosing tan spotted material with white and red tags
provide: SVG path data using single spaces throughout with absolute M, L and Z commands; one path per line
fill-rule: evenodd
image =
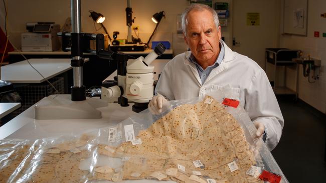
M 82 135 L 0 140 L 0 182 L 287 182 L 245 110 L 221 104 L 236 103 L 225 93 Z

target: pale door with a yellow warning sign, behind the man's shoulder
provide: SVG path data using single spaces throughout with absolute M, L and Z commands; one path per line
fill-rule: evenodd
M 279 0 L 233 0 L 232 36 L 236 43 L 232 49 L 252 58 L 263 69 L 265 48 L 278 45 L 279 8 Z M 257 25 L 248 25 L 248 16 Z

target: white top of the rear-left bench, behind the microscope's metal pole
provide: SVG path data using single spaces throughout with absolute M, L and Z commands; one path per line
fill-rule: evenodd
M 41 83 L 72 68 L 70 58 L 31 58 L 29 61 L 45 78 L 24 60 L 3 66 L 1 79 L 12 83 Z

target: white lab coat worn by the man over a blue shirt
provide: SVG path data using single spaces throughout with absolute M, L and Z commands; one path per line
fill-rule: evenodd
M 225 48 L 224 59 L 211 71 L 204 84 L 196 65 L 186 57 L 191 51 L 186 51 L 166 64 L 155 93 L 169 100 L 189 99 L 230 85 L 251 120 L 265 125 L 266 145 L 272 150 L 281 137 L 284 121 L 269 80 L 255 61 L 232 51 L 221 42 Z

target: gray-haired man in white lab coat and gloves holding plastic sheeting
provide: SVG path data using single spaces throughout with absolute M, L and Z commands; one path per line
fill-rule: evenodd
M 157 95 L 148 108 L 160 112 L 167 100 L 203 96 L 230 85 L 254 122 L 256 135 L 266 138 L 266 145 L 272 150 L 281 137 L 284 122 L 264 70 L 221 40 L 218 16 L 211 7 L 190 5 L 182 14 L 182 28 L 191 51 L 167 63 L 155 88 Z

